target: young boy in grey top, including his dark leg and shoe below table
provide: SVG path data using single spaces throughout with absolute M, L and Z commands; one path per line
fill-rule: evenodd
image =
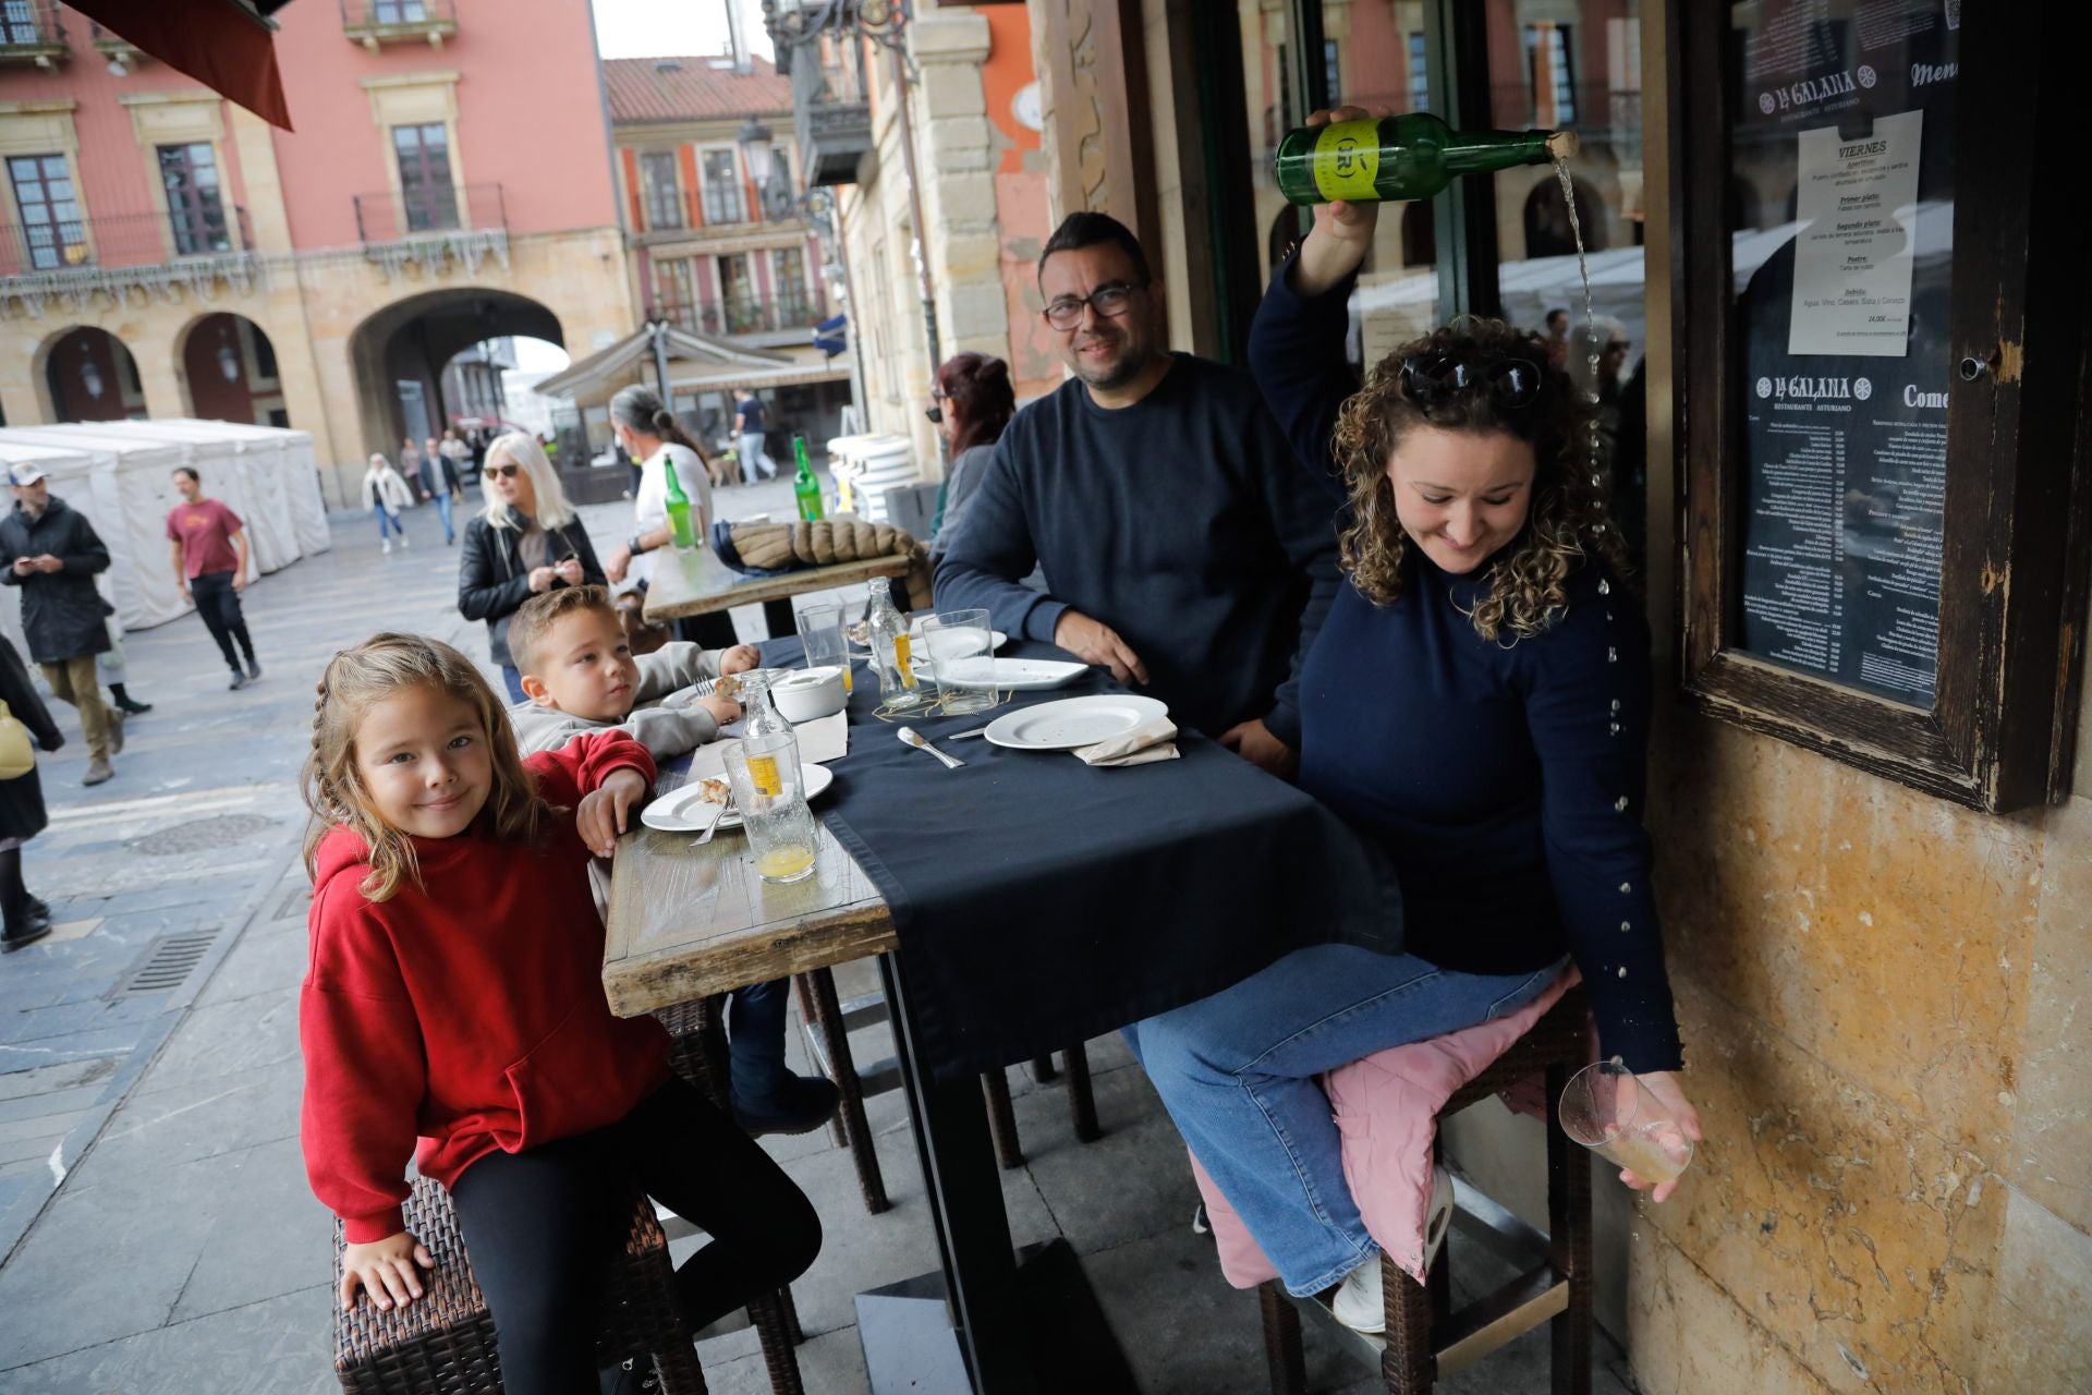
M 584 732 L 621 730 L 665 759 L 718 740 L 720 724 L 741 715 L 726 696 L 682 707 L 640 707 L 705 678 L 753 669 L 751 644 L 703 650 L 663 644 L 632 657 L 623 621 L 600 586 L 569 586 L 533 596 L 508 621 L 508 653 L 523 671 L 527 703 L 508 709 L 523 755 L 556 751 Z M 726 1016 L 734 1119 L 749 1134 L 805 1134 L 824 1125 L 837 1090 L 818 1075 L 784 1067 L 784 981 L 734 989 Z

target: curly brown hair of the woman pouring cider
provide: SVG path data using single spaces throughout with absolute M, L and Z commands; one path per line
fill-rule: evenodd
M 1540 391 L 1525 406 L 1498 399 L 1487 385 L 1418 402 L 1402 366 L 1435 353 L 1483 372 L 1506 360 L 1527 360 L 1540 368 Z M 1538 335 L 1502 320 L 1462 316 L 1374 364 L 1366 385 L 1337 416 L 1333 445 L 1351 491 L 1349 523 L 1339 533 L 1341 563 L 1366 600 L 1385 607 L 1402 596 L 1402 561 L 1410 540 L 1395 517 L 1387 462 L 1414 427 L 1502 431 L 1533 448 L 1525 527 L 1485 563 L 1487 592 L 1471 613 L 1481 638 L 1496 640 L 1508 630 L 1517 642 L 1546 630 L 1569 602 L 1569 573 L 1588 556 L 1602 558 L 1613 575 L 1625 577 L 1628 558 L 1607 508 L 1605 473 L 1592 462 L 1590 404 L 1567 372 L 1548 366 Z

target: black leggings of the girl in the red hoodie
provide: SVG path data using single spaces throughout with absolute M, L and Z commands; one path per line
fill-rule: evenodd
M 753 1138 L 682 1079 L 607 1129 L 490 1152 L 450 1188 L 508 1395 L 594 1395 L 602 1272 L 634 1190 L 705 1230 L 676 1270 L 690 1330 L 805 1274 L 820 1215 Z

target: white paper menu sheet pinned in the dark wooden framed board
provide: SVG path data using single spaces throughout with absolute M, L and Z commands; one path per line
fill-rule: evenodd
M 1904 356 L 1923 136 L 1923 111 L 1801 132 L 1789 353 Z

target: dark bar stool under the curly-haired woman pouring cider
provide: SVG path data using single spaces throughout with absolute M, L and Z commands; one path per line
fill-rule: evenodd
M 1389 1395 L 1429 1395 L 1431 1387 L 1542 1322 L 1552 1324 L 1552 1395 L 1590 1393 L 1590 1157 L 1563 1134 L 1561 1094 L 1590 1062 L 1584 1035 L 1588 1002 L 1573 987 L 1548 1008 L 1481 1075 L 1462 1085 L 1439 1111 L 1439 1121 L 1469 1104 L 1529 1079 L 1546 1077 L 1548 1092 L 1548 1232 L 1542 1236 L 1466 1184 L 1456 1186 L 1460 1209 L 1481 1219 L 1508 1251 L 1542 1251 L 1544 1259 L 1496 1293 L 1452 1311 L 1452 1280 L 1441 1249 L 1431 1282 L 1416 1284 L 1381 1257 L 1387 1295 L 1387 1336 L 1381 1376 Z M 1278 1280 L 1259 1284 L 1264 1353 L 1278 1395 L 1308 1389 L 1297 1299 Z

